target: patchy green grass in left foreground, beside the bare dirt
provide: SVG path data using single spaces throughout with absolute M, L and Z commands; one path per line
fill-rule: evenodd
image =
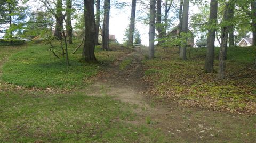
M 0 142 L 165 142 L 158 130 L 132 125 L 132 105 L 111 97 L 0 93 Z

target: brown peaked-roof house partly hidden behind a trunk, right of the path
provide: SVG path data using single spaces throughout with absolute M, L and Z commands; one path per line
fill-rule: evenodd
M 175 39 L 175 38 L 178 37 L 179 32 L 180 32 L 180 31 L 179 31 L 179 24 L 178 24 L 177 26 L 175 26 L 174 28 L 172 28 L 171 31 L 169 31 L 169 32 L 167 33 L 167 36 L 170 37 L 171 39 Z M 194 36 L 193 36 L 193 33 L 192 33 L 192 31 L 190 31 L 189 29 L 188 29 L 188 32 L 191 33 L 192 36 L 188 38 L 187 46 L 189 46 L 189 47 L 194 47 Z

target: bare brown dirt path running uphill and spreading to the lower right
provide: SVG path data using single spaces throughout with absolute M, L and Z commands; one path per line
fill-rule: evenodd
M 148 88 L 141 79 L 144 52 L 137 48 L 123 57 L 122 60 L 132 60 L 124 70 L 119 68 L 122 60 L 110 65 L 104 76 L 86 92 L 91 92 L 90 95 L 111 95 L 135 104 L 138 106 L 134 110 L 138 119 L 131 123 L 161 129 L 165 136 L 172 138 L 172 142 L 256 142 L 255 116 L 180 107 L 164 100 L 152 102 L 141 94 Z

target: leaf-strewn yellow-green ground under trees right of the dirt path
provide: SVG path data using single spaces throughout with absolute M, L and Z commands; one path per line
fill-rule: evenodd
M 154 60 L 143 61 L 145 80 L 154 85 L 151 93 L 156 97 L 176 99 L 185 106 L 256 113 L 256 77 L 215 82 L 217 73 L 204 72 L 205 52 L 206 48 L 193 48 L 191 57 L 182 61 L 177 51 L 166 53 L 158 47 Z M 216 48 L 214 68 L 217 71 L 218 52 Z M 227 75 L 253 63 L 255 57 L 255 47 L 228 48 Z

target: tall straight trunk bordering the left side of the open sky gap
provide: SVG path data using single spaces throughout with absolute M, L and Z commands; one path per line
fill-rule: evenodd
M 109 51 L 109 12 L 110 12 L 110 0 L 105 0 L 102 49 L 106 51 Z

